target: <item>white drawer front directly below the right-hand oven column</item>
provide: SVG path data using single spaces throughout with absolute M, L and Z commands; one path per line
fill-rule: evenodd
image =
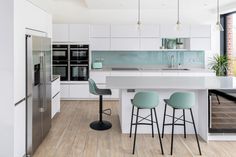
M 88 99 L 89 98 L 88 84 L 70 85 L 70 98 L 72 98 L 72 99 Z

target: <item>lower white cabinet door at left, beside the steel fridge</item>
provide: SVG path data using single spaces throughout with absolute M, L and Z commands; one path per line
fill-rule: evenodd
M 26 102 L 23 101 L 15 107 L 14 111 L 14 156 L 25 155 L 25 135 L 26 135 Z

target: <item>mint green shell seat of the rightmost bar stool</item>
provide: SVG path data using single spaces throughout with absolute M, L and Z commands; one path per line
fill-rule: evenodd
M 177 109 L 189 109 L 195 105 L 195 95 L 192 92 L 176 92 L 170 96 L 170 104 Z

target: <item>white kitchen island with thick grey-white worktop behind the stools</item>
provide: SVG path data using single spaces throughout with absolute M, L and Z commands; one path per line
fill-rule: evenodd
M 111 89 L 119 89 L 120 105 L 118 114 L 122 133 L 129 133 L 131 118 L 131 99 L 138 91 L 152 90 L 156 91 L 160 96 L 160 104 L 157 107 L 159 126 L 162 128 L 164 102 L 170 95 L 177 91 L 191 91 L 196 95 L 196 105 L 193 107 L 195 122 L 198 134 L 205 140 L 226 139 L 222 136 L 215 136 L 208 132 L 208 90 L 210 89 L 236 89 L 234 77 L 171 77 L 171 76 L 108 76 L 106 78 L 106 87 Z M 167 109 L 167 113 L 171 113 L 171 109 Z M 142 111 L 141 116 L 146 117 L 148 111 Z M 181 117 L 182 112 L 177 112 L 176 116 Z M 190 113 L 186 112 L 186 119 L 190 120 Z M 167 123 L 171 122 L 171 118 L 166 119 Z M 193 133 L 193 127 L 187 124 L 187 133 Z M 166 127 L 165 132 L 170 133 L 171 127 Z M 140 126 L 138 133 L 151 133 L 150 126 Z M 183 133 L 182 127 L 176 127 L 176 134 Z M 230 134 L 228 139 L 235 140 L 236 135 Z

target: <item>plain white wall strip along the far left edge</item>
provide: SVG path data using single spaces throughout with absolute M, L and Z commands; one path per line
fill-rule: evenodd
M 0 1 L 0 156 L 13 156 L 14 102 L 13 102 L 13 51 L 14 51 L 14 0 Z M 4 20 L 3 20 L 4 19 Z

